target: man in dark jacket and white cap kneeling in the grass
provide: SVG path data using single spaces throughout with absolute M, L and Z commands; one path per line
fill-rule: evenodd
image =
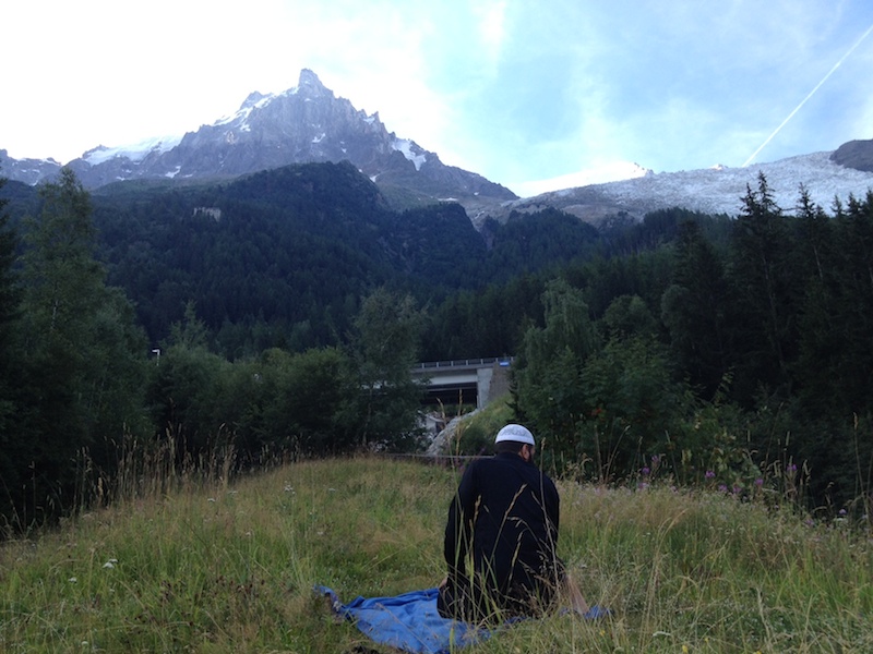
M 585 614 L 588 606 L 555 553 L 560 500 L 554 483 L 534 465 L 534 435 L 509 424 L 494 443 L 493 457 L 464 472 L 449 508 L 440 615 L 467 622 L 535 617 L 559 590 L 572 610 Z

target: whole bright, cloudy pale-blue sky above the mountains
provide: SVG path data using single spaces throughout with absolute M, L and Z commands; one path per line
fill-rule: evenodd
M 629 162 L 739 167 L 873 137 L 870 0 L 28 0 L 1 14 L 14 158 L 194 131 L 302 68 L 523 195 Z

